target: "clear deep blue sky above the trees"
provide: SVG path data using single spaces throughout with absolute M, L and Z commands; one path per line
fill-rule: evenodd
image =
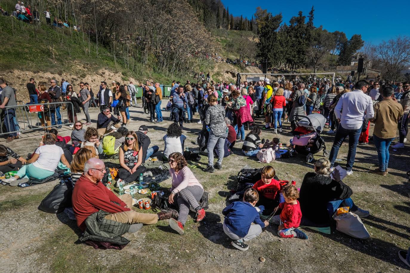
M 289 24 L 292 16 L 303 11 L 307 16 L 314 5 L 314 25 L 333 32 L 346 33 L 347 39 L 353 34 L 362 34 L 364 41 L 378 44 L 396 36 L 410 36 L 410 0 L 381 1 L 249 1 L 221 0 L 233 16 L 247 17 L 255 13 L 256 7 L 267 9 L 273 15 L 282 12 L 283 22 Z

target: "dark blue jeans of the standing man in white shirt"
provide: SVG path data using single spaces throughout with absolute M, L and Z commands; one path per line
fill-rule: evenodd
M 342 124 L 339 124 L 337 127 L 337 132 L 335 136 L 335 141 L 333 142 L 332 150 L 330 150 L 330 166 L 333 167 L 335 164 L 335 160 L 337 157 L 337 153 L 339 152 L 339 148 L 342 145 L 346 136 L 349 136 L 349 152 L 347 154 L 347 164 L 346 164 L 346 171 L 351 171 L 353 168 L 353 163 L 355 162 L 356 157 L 356 147 L 358 146 L 360 133 L 362 132 L 362 126 L 359 129 L 344 129 Z

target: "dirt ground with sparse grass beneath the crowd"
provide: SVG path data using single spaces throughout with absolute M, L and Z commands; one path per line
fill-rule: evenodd
M 98 109 L 92 108 L 90 112 L 95 125 Z M 138 130 L 146 124 L 152 145 L 159 146 L 155 154 L 159 156 L 164 148 L 162 137 L 171 122 L 149 123 L 140 107 L 130 107 L 130 114 L 128 128 Z M 169 112 L 164 111 L 163 115 L 167 118 Z M 197 118 L 196 115 L 194 121 Z M 261 124 L 261 120 L 257 123 Z M 199 124 L 184 126 L 185 145 L 191 150 L 197 148 L 194 143 L 199 131 Z M 68 128 L 61 130 L 62 136 L 70 134 Z M 334 136 L 323 135 L 330 149 Z M 262 133 L 264 138 L 273 136 L 271 130 Z M 275 136 L 287 143 L 291 138 L 289 123 L 284 124 L 282 134 Z M 41 134 L 34 134 L 1 144 L 24 157 L 37 147 L 40 139 Z M 203 172 L 205 156 L 200 160 L 201 166 L 193 169 L 210 194 L 210 208 L 202 223 L 195 223 L 195 215 L 190 216 L 184 235 L 171 230 L 167 221 L 146 225 L 139 232 L 124 234 L 131 242 L 121 251 L 94 250 L 77 241 L 80 230 L 64 213 L 48 214 L 37 209 L 58 181 L 27 188 L 0 186 L 0 272 L 410 272 L 397 256 L 398 250 L 410 246 L 410 187 L 405 174 L 409 171 L 408 144 L 403 150 L 391 152 L 389 174 L 385 177 L 369 173 L 377 163 L 374 145 L 358 146 L 354 173 L 344 179 L 353 189 L 354 202 L 371 212 L 371 216 L 363 219 L 371 234 L 369 239 L 348 237 L 335 227 L 329 235 L 304 229 L 308 240 L 281 239 L 277 226 L 270 225 L 249 241 L 249 250 L 244 252 L 230 246 L 222 230 L 221 211 L 229 190 L 235 187 L 239 170 L 246 164 L 255 168 L 265 164 L 242 156 L 240 149 L 241 144 L 236 144 L 235 155 L 223 159 L 222 170 Z M 344 143 L 337 163 L 344 166 L 346 155 Z M 314 159 L 321 157 L 318 154 Z M 296 180 L 297 186 L 305 173 L 312 171 L 312 164 L 305 163 L 302 156 L 278 159 L 271 165 L 278 177 Z M 170 183 L 168 179 L 162 185 Z M 260 257 L 266 262 L 260 262 Z

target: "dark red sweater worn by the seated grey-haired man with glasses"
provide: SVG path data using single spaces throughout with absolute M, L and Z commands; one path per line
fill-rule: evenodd
M 85 219 L 94 212 L 102 209 L 105 212 L 127 212 L 125 202 L 121 201 L 112 191 L 107 189 L 102 182 L 94 184 L 84 174 L 77 180 L 73 189 L 73 210 L 77 225 L 80 230 L 85 230 Z M 113 202 L 117 202 L 117 205 Z

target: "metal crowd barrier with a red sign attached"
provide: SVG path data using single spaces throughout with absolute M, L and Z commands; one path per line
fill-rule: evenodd
M 64 110 L 62 109 L 63 105 L 66 106 L 66 109 Z M 74 120 L 68 122 L 69 111 L 67 108 L 70 107 L 71 117 L 74 118 L 74 106 L 72 102 L 24 104 L 23 101 L 18 100 L 16 106 L 6 106 L 2 109 L 0 118 L 0 136 L 10 133 L 40 131 L 74 124 Z M 58 112 L 61 118 L 57 118 Z M 50 125 L 48 125 L 47 121 L 50 121 Z M 54 125 L 53 121 L 55 123 Z

